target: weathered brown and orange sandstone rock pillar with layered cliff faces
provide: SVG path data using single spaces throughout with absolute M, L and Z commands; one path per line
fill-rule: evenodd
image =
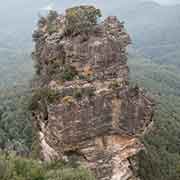
M 54 102 L 39 99 L 34 111 L 44 160 L 76 156 L 98 180 L 139 179 L 131 157 L 144 148 L 138 136 L 152 122 L 153 103 L 129 87 L 131 41 L 124 25 L 108 17 L 88 33 L 70 35 L 66 15 L 53 21 L 55 32 L 48 32 L 44 19 L 33 34 L 40 77 L 34 86 L 57 94 Z M 67 66 L 76 73 L 63 79 Z

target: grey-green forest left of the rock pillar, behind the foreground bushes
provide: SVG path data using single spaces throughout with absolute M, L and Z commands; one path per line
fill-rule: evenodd
M 26 87 L 0 92 L 0 149 L 28 154 L 32 144 L 31 114 L 27 100 L 31 93 Z

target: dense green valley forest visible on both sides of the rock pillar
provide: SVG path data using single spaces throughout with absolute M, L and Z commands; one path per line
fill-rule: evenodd
M 129 57 L 131 83 L 140 84 L 156 101 L 152 132 L 142 141 L 147 151 L 139 154 L 144 180 L 178 180 L 180 177 L 180 76 L 176 66 L 157 65 L 143 57 Z M 30 155 L 35 136 L 28 112 L 31 90 L 18 86 L 1 91 L 0 147 Z M 31 154 L 33 155 L 33 154 Z

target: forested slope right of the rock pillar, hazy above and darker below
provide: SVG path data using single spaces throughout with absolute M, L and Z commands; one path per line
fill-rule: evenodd
M 179 180 L 180 76 L 177 67 L 157 65 L 148 59 L 130 58 L 131 78 L 156 94 L 153 130 L 142 138 L 139 175 L 143 180 Z

